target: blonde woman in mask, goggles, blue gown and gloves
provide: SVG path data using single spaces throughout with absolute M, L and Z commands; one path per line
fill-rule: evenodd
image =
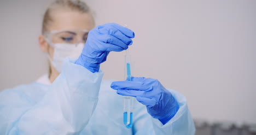
M 110 51 L 129 48 L 135 34 L 114 23 L 94 24 L 84 2 L 50 5 L 39 36 L 49 75 L 0 93 L 0 134 L 194 134 L 185 97 L 158 80 L 102 81 L 100 64 Z M 123 124 L 120 95 L 138 101 L 131 128 Z

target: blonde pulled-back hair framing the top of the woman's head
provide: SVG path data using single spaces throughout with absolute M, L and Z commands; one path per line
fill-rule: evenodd
M 91 13 L 89 6 L 82 1 L 79 0 L 55 0 L 50 4 L 48 9 L 46 9 L 43 17 L 43 26 L 42 26 L 42 34 L 48 30 L 48 26 L 50 22 L 53 21 L 53 16 L 51 16 L 51 12 L 54 9 L 69 9 L 79 11 L 80 13 Z M 92 21 L 94 21 L 94 17 L 92 16 Z

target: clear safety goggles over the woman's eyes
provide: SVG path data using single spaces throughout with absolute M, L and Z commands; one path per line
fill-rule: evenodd
M 54 44 L 79 44 L 85 43 L 88 37 L 89 30 L 62 30 L 48 31 L 44 36 L 48 43 L 54 47 Z

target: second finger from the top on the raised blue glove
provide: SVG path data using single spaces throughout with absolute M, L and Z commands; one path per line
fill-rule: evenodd
M 117 28 L 112 27 L 112 26 L 106 26 L 103 28 L 98 29 L 99 34 L 109 34 L 112 35 L 122 42 L 124 42 L 126 45 L 131 45 L 132 44 L 132 39 L 127 37 L 125 34 L 121 33 Z

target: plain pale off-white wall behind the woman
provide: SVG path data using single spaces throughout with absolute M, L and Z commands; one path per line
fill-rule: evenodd
M 48 72 L 37 38 L 49 2 L 0 1 L 1 90 Z M 87 2 L 97 25 L 135 31 L 132 74 L 183 93 L 193 118 L 256 122 L 256 1 Z M 102 64 L 105 79 L 123 80 L 123 55 L 113 52 Z

